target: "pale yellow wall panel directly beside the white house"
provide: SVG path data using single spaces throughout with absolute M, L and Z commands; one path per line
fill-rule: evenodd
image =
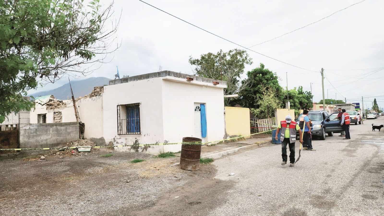
M 250 135 L 249 109 L 225 106 L 225 130 L 229 136 Z

